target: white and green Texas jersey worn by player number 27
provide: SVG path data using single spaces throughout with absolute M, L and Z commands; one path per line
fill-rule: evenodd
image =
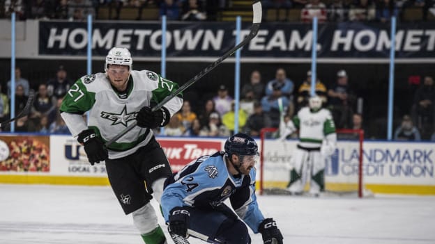
M 178 84 L 148 70 L 132 70 L 127 91 L 123 94 L 112 88 L 106 74 L 86 75 L 68 90 L 60 108 L 61 115 L 73 136 L 89 128 L 107 142 L 135 121 L 140 108 L 150 105 L 151 101 L 162 101 L 177 89 Z M 164 106 L 172 116 L 182 104 L 179 95 Z M 86 111 L 89 111 L 87 125 L 82 119 Z M 132 154 L 146 145 L 152 136 L 151 129 L 135 127 L 108 147 L 109 158 Z

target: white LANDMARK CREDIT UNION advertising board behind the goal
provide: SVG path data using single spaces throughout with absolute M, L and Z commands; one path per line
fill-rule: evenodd
M 286 186 L 296 140 L 266 140 L 264 179 Z M 326 160 L 326 184 L 358 182 L 358 143 L 339 141 L 335 154 Z M 435 195 L 434 143 L 365 141 L 363 182 L 374 193 L 415 193 Z M 327 186 L 328 187 L 328 186 Z

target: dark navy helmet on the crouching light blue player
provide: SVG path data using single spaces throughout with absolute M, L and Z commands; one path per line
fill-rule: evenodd
M 258 146 L 255 140 L 244 133 L 236 133 L 230 136 L 224 145 L 225 154 L 231 156 L 237 154 L 238 156 L 257 156 Z

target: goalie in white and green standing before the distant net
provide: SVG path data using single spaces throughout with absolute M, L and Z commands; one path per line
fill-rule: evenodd
M 325 188 L 325 159 L 335 151 L 337 134 L 330 111 L 321 105 L 320 97 L 311 97 L 309 107 L 301 108 L 292 120 L 280 124 L 281 140 L 299 130 L 299 143 L 292 159 L 294 167 L 287 185 L 291 194 L 303 193 L 309 177 L 310 194 L 318 196 Z

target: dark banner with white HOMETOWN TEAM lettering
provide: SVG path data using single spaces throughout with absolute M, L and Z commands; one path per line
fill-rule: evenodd
M 243 24 L 244 38 L 249 23 Z M 39 55 L 86 56 L 86 23 L 39 24 Z M 235 45 L 232 22 L 177 22 L 167 26 L 168 57 L 218 57 Z M 112 47 L 127 47 L 133 56 L 159 58 L 158 22 L 93 23 L 93 56 L 106 56 Z M 319 58 L 388 58 L 390 26 L 373 23 L 320 24 Z M 242 49 L 249 58 L 310 58 L 311 24 L 264 23 L 256 38 Z M 435 26 L 427 23 L 397 26 L 396 58 L 435 58 Z

